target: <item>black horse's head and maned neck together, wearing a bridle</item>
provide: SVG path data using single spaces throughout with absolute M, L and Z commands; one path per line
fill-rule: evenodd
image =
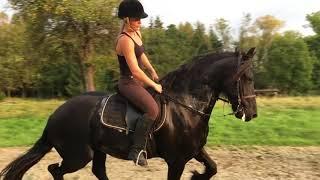
M 197 108 L 188 108 L 195 112 L 199 109 L 211 111 L 222 93 L 231 102 L 235 116 L 250 121 L 257 117 L 251 60 L 254 54 L 255 48 L 247 53 L 204 54 L 167 74 L 161 83 L 167 92 L 175 92 L 183 98 L 192 97 Z

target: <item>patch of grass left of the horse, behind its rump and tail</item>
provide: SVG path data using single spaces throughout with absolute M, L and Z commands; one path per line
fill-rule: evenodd
M 0 147 L 34 144 L 61 100 L 7 98 L 0 102 Z

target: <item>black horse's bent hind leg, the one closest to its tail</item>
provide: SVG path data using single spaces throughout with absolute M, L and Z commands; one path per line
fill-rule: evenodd
M 63 157 L 61 165 L 59 166 L 59 164 L 56 163 L 48 166 L 48 171 L 51 173 L 54 180 L 63 180 L 64 174 L 73 173 L 85 167 L 92 160 L 92 153 L 90 153 L 89 149 L 59 154 Z

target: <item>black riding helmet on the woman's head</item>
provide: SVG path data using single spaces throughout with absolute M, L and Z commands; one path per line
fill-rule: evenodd
M 144 12 L 142 4 L 138 0 L 123 0 L 118 9 L 118 17 L 125 18 L 146 18 L 148 14 Z

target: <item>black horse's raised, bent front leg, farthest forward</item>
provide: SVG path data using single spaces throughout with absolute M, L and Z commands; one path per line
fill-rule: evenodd
M 197 171 L 193 172 L 192 180 L 196 179 L 210 179 L 213 175 L 217 174 L 217 164 L 210 158 L 209 154 L 207 153 L 204 148 L 201 149 L 199 154 L 195 157 L 195 159 L 199 162 L 204 163 L 206 166 L 206 170 L 204 174 L 200 174 Z

